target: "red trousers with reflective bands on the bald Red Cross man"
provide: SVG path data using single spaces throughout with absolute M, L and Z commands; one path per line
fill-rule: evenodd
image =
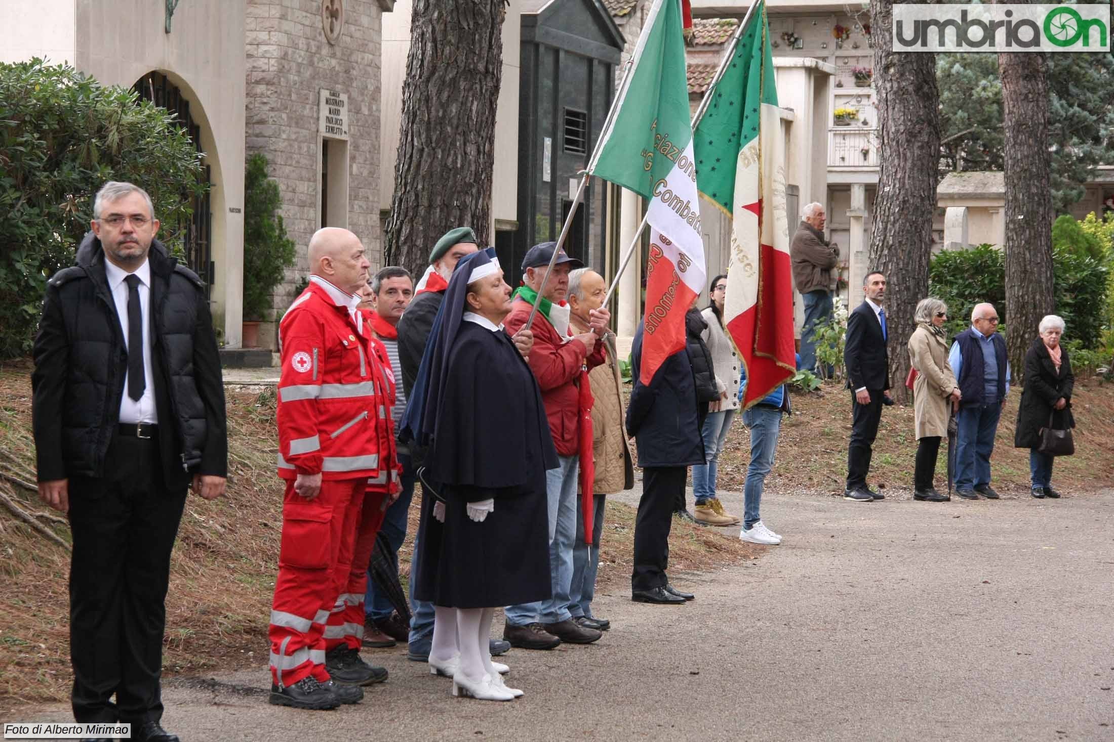
M 293 479 L 286 481 L 268 631 L 271 680 L 280 686 L 310 674 L 321 682 L 329 680 L 324 632 L 351 570 L 367 486 L 367 476 L 324 479 L 317 496 L 306 499 L 294 492 Z

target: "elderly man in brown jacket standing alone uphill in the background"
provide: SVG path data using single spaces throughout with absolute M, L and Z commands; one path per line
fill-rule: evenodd
M 809 204 L 804 219 L 793 235 L 789 257 L 793 264 L 793 283 L 804 301 L 804 326 L 801 327 L 801 368 L 817 368 L 817 344 L 813 332 L 818 324 L 832 316 L 832 269 L 839 263 L 839 246 L 824 239 L 824 207 Z

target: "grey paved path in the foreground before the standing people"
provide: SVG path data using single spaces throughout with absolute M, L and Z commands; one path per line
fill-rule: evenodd
M 261 666 L 170 680 L 164 722 L 187 741 L 1114 740 L 1114 491 L 763 511 L 784 544 L 673 575 L 695 602 L 614 591 L 598 644 L 511 651 L 514 703 L 452 699 L 402 650 L 365 650 L 391 679 L 361 705 L 270 706 Z

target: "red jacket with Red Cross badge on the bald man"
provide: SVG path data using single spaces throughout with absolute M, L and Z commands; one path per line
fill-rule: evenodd
M 278 476 L 385 482 L 395 467 L 387 353 L 338 304 L 348 295 L 319 281 L 311 277 L 278 325 Z

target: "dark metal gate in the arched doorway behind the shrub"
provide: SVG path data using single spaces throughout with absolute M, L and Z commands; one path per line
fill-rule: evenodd
M 175 122 L 186 130 L 194 148 L 202 151 L 202 128 L 189 115 L 189 101 L 182 97 L 178 87 L 162 72 L 148 72 L 133 86 L 141 100 L 149 100 L 175 115 Z M 209 189 L 212 180 L 209 166 L 205 166 L 201 181 L 209 186 L 202 196 L 192 196 L 193 216 L 185 225 L 186 265 L 205 281 L 205 293 L 215 278 L 213 270 L 213 215 L 209 210 Z

